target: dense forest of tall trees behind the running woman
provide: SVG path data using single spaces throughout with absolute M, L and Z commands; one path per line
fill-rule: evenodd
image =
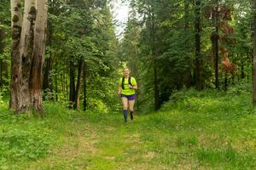
M 137 107 L 149 103 L 155 111 L 182 88 L 227 90 L 252 82 L 250 1 L 130 1 L 119 39 L 114 2 L 49 1 L 41 25 L 32 14 L 35 1 L 11 2 L 1 2 L 0 86 L 17 112 L 43 111 L 42 99 L 84 111 L 113 109 L 124 65 L 138 80 Z M 45 28 L 37 33 L 37 26 Z

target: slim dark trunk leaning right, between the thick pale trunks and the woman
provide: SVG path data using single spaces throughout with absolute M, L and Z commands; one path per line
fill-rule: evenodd
M 79 110 L 80 107 L 80 88 L 81 88 L 81 81 L 84 69 L 84 59 L 79 60 L 79 73 L 78 73 L 78 82 L 76 88 L 76 97 L 75 97 L 75 109 Z

